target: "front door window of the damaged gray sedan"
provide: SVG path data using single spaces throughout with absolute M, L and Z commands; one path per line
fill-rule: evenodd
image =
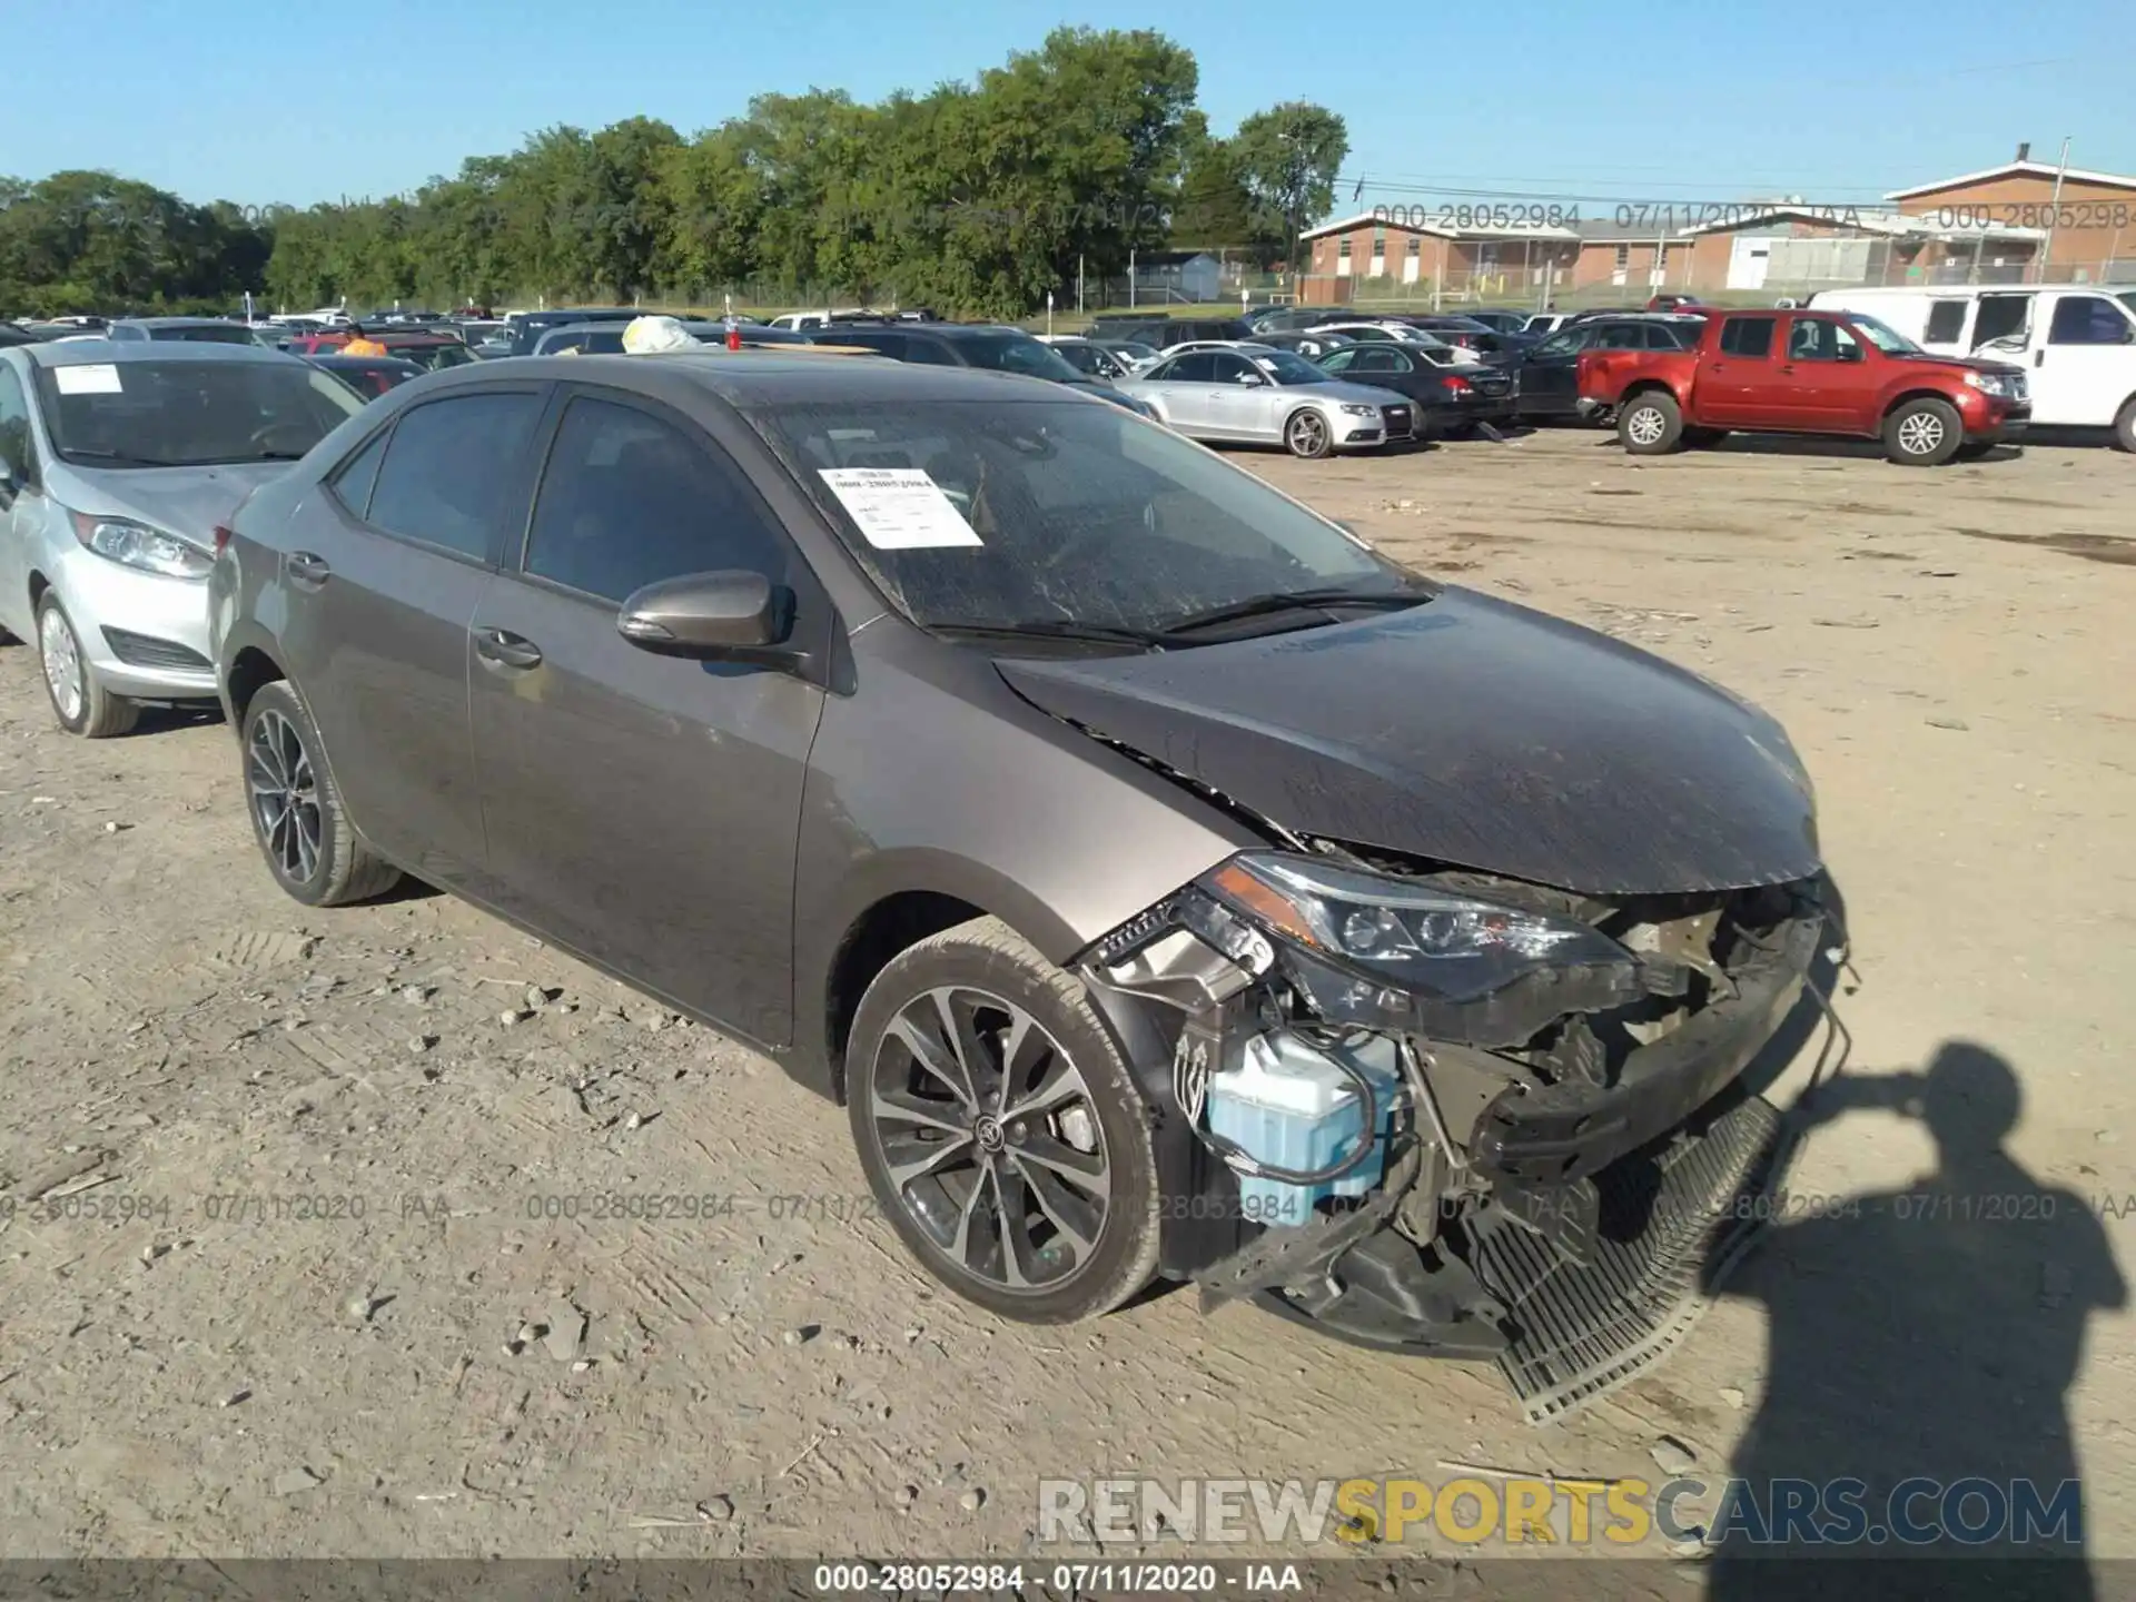
M 786 577 L 784 543 L 741 472 L 666 419 L 575 399 L 549 446 L 525 570 L 622 602 L 731 568 Z

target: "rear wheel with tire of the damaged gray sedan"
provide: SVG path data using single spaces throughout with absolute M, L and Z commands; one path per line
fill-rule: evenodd
M 305 906 L 348 906 L 399 882 L 399 869 L 350 827 L 318 726 L 286 679 L 254 692 L 241 750 L 252 837 L 290 897 Z

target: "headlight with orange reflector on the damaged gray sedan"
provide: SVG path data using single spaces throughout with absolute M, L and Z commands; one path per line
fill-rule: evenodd
M 1314 857 L 1245 852 L 1200 889 L 1277 940 L 1446 1000 L 1485 995 L 1529 970 L 1636 965 L 1585 923 Z

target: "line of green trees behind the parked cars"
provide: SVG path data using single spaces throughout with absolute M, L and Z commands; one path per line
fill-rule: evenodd
M 1059 28 L 927 94 L 765 94 L 694 137 L 654 117 L 555 126 L 408 197 L 250 224 L 103 173 L 0 179 L 0 310 L 252 288 L 290 310 L 735 293 L 1021 316 L 1134 252 L 1222 246 L 1267 265 L 1326 214 L 1348 154 L 1337 113 L 1288 103 L 1218 137 L 1196 90 L 1194 56 L 1162 34 Z

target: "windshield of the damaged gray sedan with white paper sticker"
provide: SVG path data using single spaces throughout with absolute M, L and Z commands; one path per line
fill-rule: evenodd
M 1153 630 L 1269 594 L 1420 581 L 1260 478 L 1085 402 L 752 410 L 893 604 L 923 626 Z

